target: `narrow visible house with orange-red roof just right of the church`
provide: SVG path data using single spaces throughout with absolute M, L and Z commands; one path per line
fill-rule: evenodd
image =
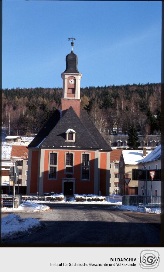
M 118 194 L 118 168 L 121 150 L 113 149 L 110 160 L 110 194 Z

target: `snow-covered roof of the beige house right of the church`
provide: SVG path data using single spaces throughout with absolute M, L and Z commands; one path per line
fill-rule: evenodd
M 152 151 L 146 151 L 146 154 L 149 155 Z M 143 150 L 122 150 L 122 155 L 124 158 L 125 164 L 138 164 L 138 162 L 144 158 Z

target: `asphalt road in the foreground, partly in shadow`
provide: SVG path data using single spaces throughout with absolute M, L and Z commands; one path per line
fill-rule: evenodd
M 8 243 L 159 244 L 160 215 L 122 212 L 109 205 L 50 204 L 51 211 L 16 213 L 37 218 L 45 227 Z M 3 214 L 2 217 L 6 215 Z

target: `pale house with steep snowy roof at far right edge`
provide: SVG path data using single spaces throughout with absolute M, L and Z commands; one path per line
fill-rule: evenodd
M 161 169 L 161 144 L 155 148 L 148 156 L 141 159 L 138 162 L 139 169 Z M 148 173 L 149 175 L 149 173 Z M 141 181 L 138 180 L 138 195 L 148 195 L 151 194 L 151 181 Z M 152 196 L 161 195 L 161 181 L 152 181 Z

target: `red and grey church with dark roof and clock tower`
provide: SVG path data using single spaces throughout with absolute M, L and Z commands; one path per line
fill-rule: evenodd
M 80 109 L 77 55 L 66 56 L 61 74 L 61 110 L 50 119 L 28 145 L 27 195 L 45 192 L 109 195 L 110 151 L 85 110 Z

